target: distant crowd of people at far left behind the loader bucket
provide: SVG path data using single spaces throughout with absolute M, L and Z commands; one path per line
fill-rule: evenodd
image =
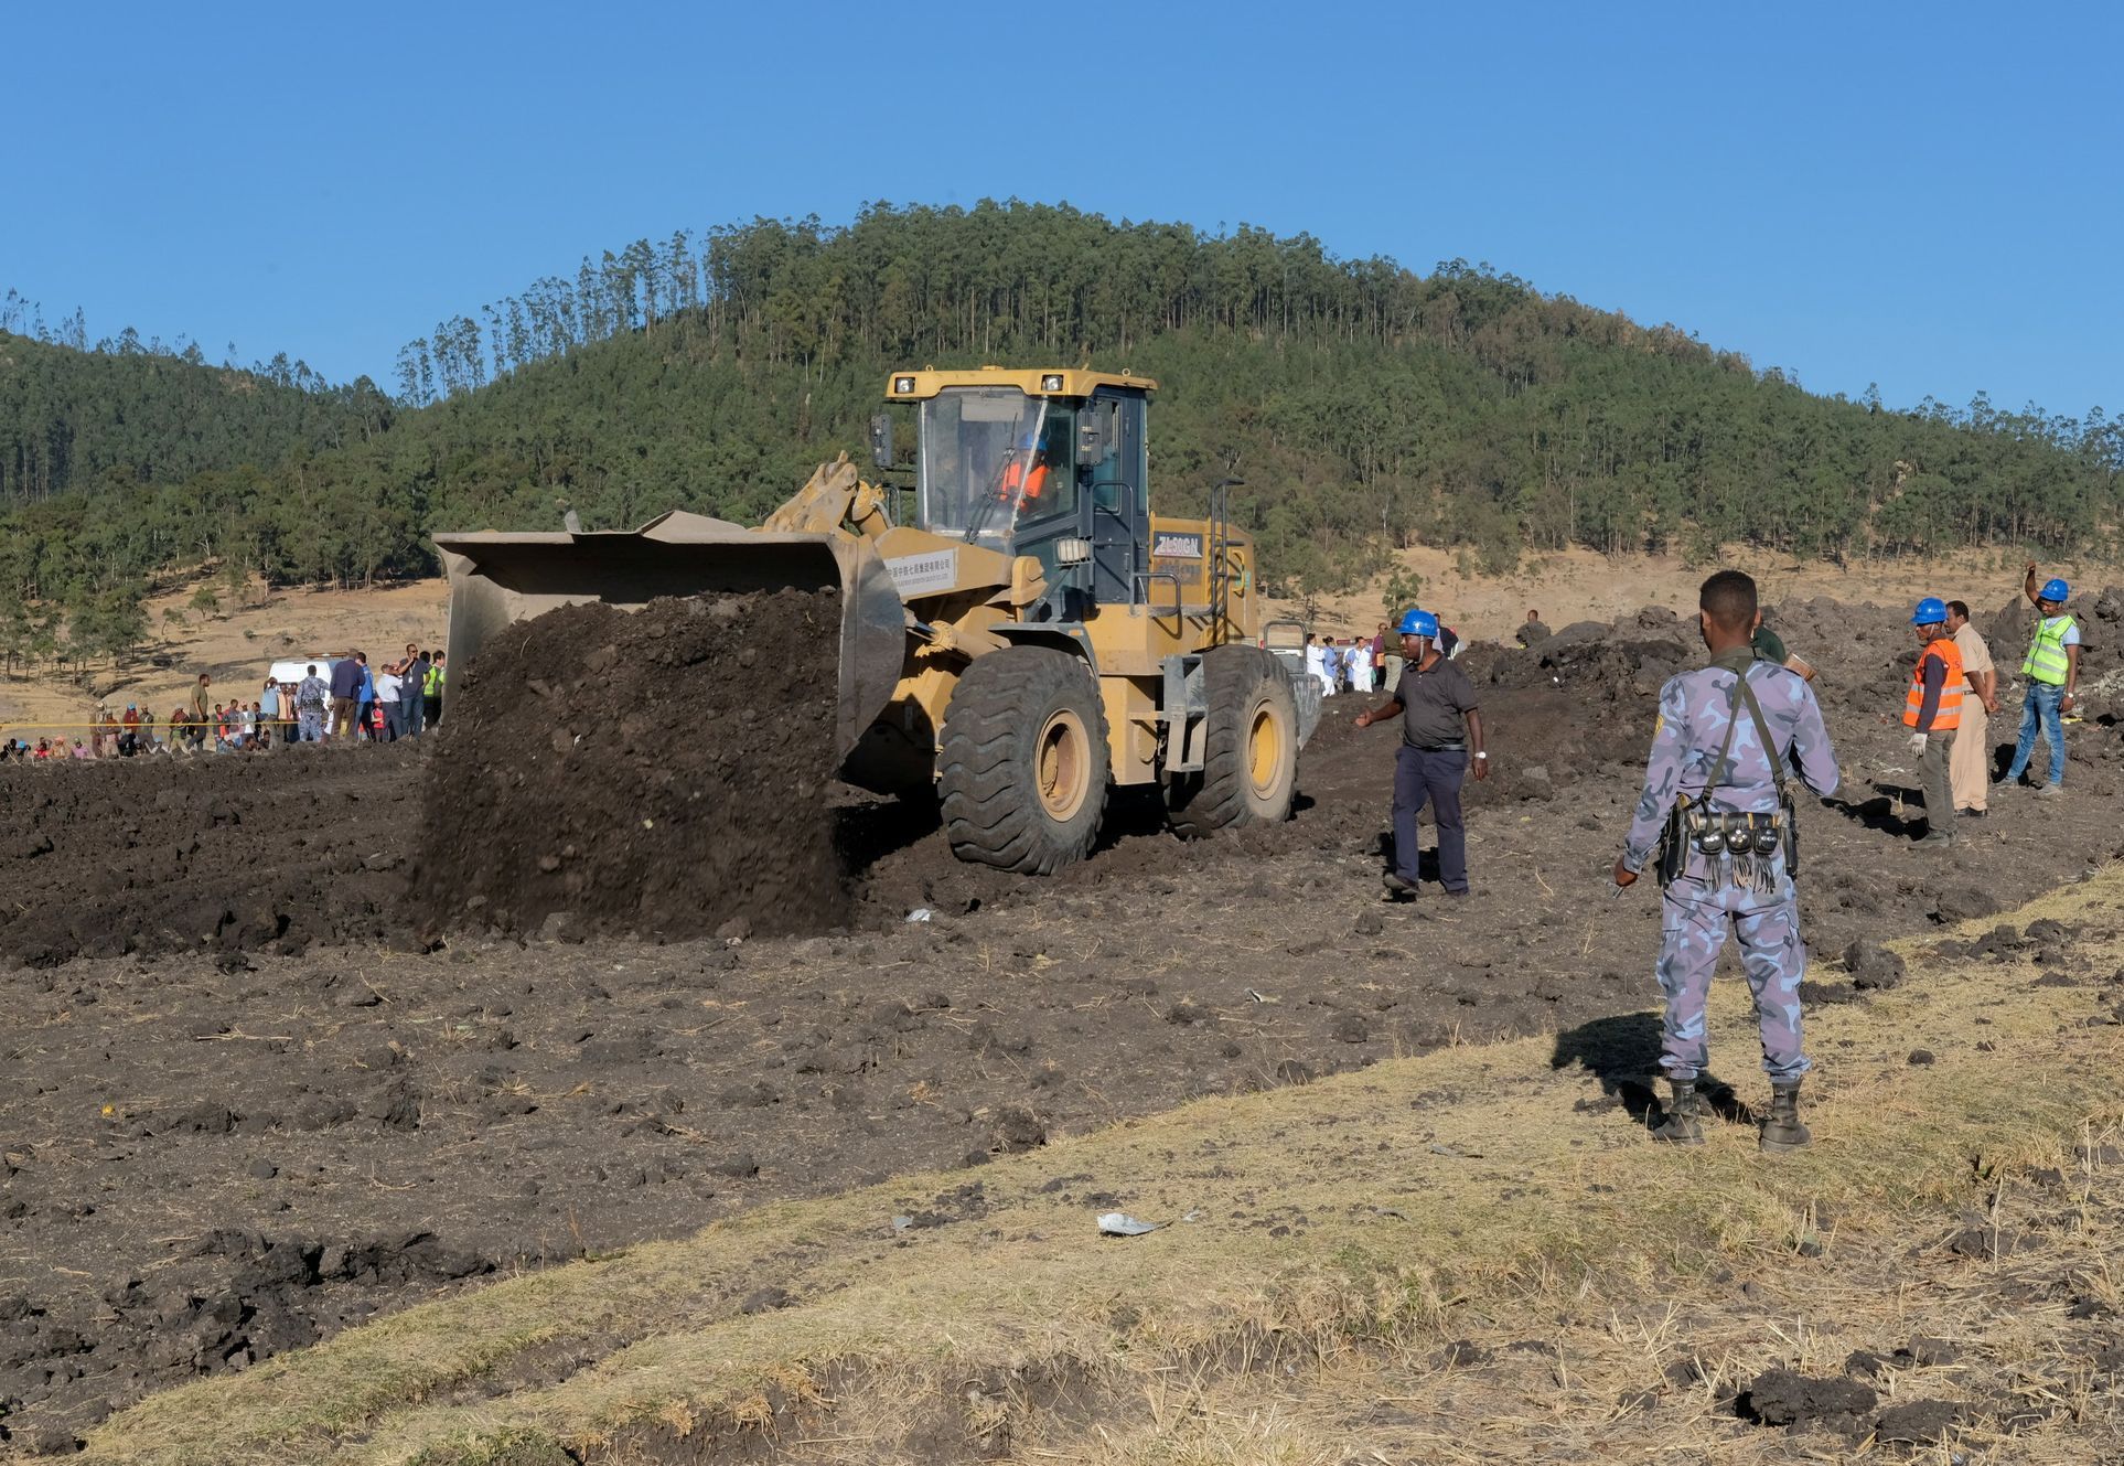
M 370 667 L 367 652 L 304 665 L 302 678 L 266 678 L 249 701 L 219 699 L 202 671 L 185 705 L 157 725 L 155 710 L 100 708 L 81 737 L 0 739 L 0 761 L 136 758 L 142 754 L 255 754 L 274 744 L 391 744 L 442 722 L 444 652 L 408 642 L 406 654 Z

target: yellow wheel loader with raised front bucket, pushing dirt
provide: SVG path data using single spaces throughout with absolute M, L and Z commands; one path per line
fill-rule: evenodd
M 932 790 L 962 860 L 1049 873 L 1098 839 L 1109 786 L 1158 786 L 1181 835 L 1277 822 L 1319 691 L 1257 646 L 1253 540 L 1149 510 L 1155 382 L 1104 372 L 894 372 L 911 491 L 820 465 L 746 529 L 673 512 L 618 533 L 435 535 L 450 665 L 571 601 L 839 586 L 841 778 Z M 871 425 L 892 467 L 890 416 Z

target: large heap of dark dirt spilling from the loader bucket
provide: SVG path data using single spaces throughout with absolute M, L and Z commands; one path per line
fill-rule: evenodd
M 569 606 L 452 682 L 414 869 L 444 928 L 824 931 L 837 591 Z

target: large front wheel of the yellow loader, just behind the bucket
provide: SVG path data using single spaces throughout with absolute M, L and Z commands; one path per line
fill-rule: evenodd
M 1045 646 L 973 659 L 945 708 L 937 758 L 952 854 L 1051 875 L 1092 852 L 1107 784 L 1107 718 L 1081 659 Z

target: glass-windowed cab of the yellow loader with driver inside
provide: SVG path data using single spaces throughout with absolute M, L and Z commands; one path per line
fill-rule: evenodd
M 1083 620 L 1141 595 L 1149 567 L 1145 402 L 1155 382 L 1098 372 L 903 372 L 915 406 L 915 527 L 1030 555 L 1037 620 Z

